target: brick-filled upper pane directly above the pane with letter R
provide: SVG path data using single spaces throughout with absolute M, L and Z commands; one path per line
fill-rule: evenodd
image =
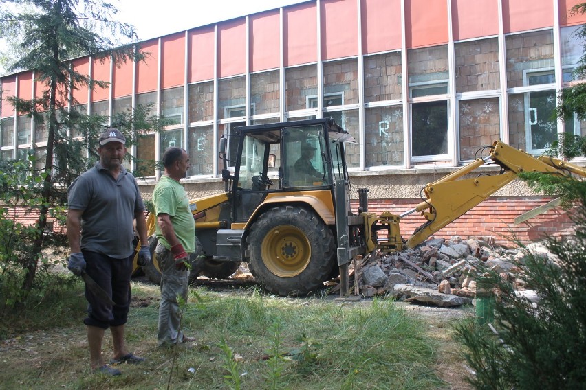
M 365 102 L 402 98 L 401 53 L 365 56 Z

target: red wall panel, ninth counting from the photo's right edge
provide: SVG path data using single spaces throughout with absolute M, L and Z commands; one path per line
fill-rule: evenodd
M 246 19 L 218 25 L 218 77 L 246 73 Z

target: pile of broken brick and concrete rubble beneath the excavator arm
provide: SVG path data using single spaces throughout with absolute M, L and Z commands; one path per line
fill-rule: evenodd
M 539 244 L 532 246 L 532 250 L 545 251 Z M 462 306 L 473 303 L 477 266 L 482 263 L 514 281 L 517 290 L 531 299 L 531 292 L 523 292 L 523 282 L 517 278 L 520 270 L 511 261 L 521 257 L 519 249 L 495 247 L 491 238 L 431 238 L 415 249 L 390 255 L 371 253 L 356 260 L 354 277 L 358 283 L 354 294 L 393 295 L 441 307 Z

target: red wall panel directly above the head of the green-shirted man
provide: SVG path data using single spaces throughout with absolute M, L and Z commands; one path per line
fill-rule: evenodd
M 185 83 L 185 33 L 161 39 L 161 88 L 178 87 Z

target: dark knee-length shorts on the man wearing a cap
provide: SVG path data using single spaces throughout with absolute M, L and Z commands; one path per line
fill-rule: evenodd
M 128 319 L 131 292 L 130 278 L 133 268 L 133 257 L 114 259 L 101 253 L 82 251 L 85 257 L 85 272 L 102 287 L 116 303 L 114 306 L 102 302 L 86 286 L 85 299 L 87 317 L 85 325 L 107 329 L 110 326 L 124 325 Z

